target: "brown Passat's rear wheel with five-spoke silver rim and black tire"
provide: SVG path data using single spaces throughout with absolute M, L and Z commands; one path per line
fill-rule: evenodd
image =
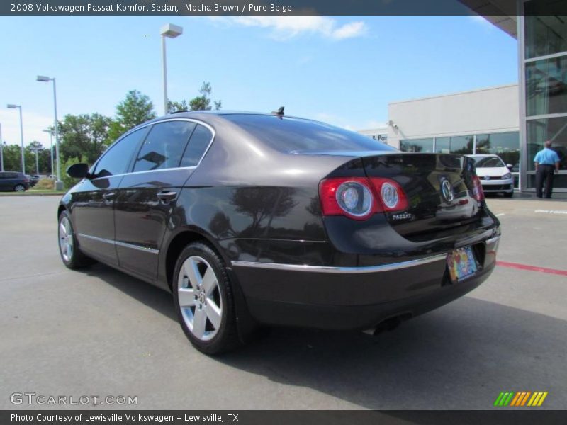
M 230 278 L 208 244 L 193 242 L 181 251 L 172 291 L 181 329 L 195 348 L 215 355 L 240 345 Z

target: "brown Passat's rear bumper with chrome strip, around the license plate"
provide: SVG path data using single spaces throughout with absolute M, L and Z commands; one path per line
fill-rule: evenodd
M 478 244 L 478 272 L 458 283 L 449 280 L 447 252 L 368 267 L 232 261 L 232 268 L 260 323 L 368 329 L 390 317 L 422 314 L 476 288 L 493 271 L 499 238 Z

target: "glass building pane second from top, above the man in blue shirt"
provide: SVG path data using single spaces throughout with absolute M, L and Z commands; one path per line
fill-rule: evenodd
M 567 55 L 526 64 L 526 114 L 567 112 Z

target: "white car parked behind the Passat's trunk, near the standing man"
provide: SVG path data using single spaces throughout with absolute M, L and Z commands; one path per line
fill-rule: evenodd
M 502 193 L 507 198 L 514 196 L 513 167 L 498 155 L 467 155 L 474 159 L 476 174 L 481 179 L 484 193 Z

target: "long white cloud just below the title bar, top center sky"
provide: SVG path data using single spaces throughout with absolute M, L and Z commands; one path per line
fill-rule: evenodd
M 288 40 L 303 33 L 313 33 L 332 40 L 359 37 L 368 27 L 362 21 L 340 25 L 327 16 L 209 16 L 211 21 L 247 27 L 268 28 L 276 40 Z

